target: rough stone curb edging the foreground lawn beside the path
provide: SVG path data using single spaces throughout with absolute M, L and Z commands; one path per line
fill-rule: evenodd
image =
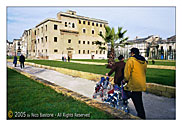
M 116 119 L 140 120 L 139 117 L 136 117 L 136 116 L 134 116 L 134 115 L 132 115 L 130 113 L 127 114 L 122 110 L 112 108 L 108 104 L 105 104 L 103 102 L 88 98 L 88 97 L 83 96 L 83 95 L 81 95 L 81 94 L 79 94 L 77 92 L 74 92 L 72 90 L 66 89 L 66 88 L 61 87 L 61 86 L 58 86 L 58 85 L 56 85 L 56 84 L 54 84 L 52 82 L 46 81 L 44 79 L 35 77 L 35 76 L 33 76 L 33 75 L 29 74 L 29 73 L 26 73 L 26 72 L 23 72 L 21 70 L 15 69 L 14 67 L 8 66 L 8 68 L 13 69 L 13 70 L 19 72 L 22 75 L 25 75 L 26 77 L 28 77 L 28 78 L 30 78 L 32 80 L 35 80 L 35 81 L 37 81 L 37 82 L 39 82 L 39 83 L 41 83 L 41 84 L 43 84 L 45 86 L 48 86 L 48 87 L 54 89 L 57 93 L 62 93 L 63 95 L 71 96 L 72 98 L 74 98 L 76 100 L 79 100 L 79 101 L 82 101 L 82 102 L 86 103 L 89 106 L 98 108 L 98 109 L 100 109 L 100 110 L 102 110 L 102 111 L 104 111 L 104 112 L 106 112 L 108 114 L 111 114 Z

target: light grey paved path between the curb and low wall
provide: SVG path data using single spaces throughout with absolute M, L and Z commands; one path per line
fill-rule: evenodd
M 7 65 L 13 66 L 12 63 L 8 62 Z M 16 67 L 20 69 L 20 67 Z M 44 68 L 25 66 L 22 71 L 37 76 L 39 78 L 45 79 L 47 81 L 53 82 L 57 85 L 70 89 L 72 91 L 78 92 L 84 96 L 92 98 L 94 87 L 96 82 L 76 78 L 62 73 L 48 70 Z M 143 102 L 146 111 L 147 119 L 175 119 L 176 118 L 176 99 L 159 97 L 149 93 L 143 93 Z M 134 105 L 131 100 L 129 100 L 130 113 L 136 115 Z

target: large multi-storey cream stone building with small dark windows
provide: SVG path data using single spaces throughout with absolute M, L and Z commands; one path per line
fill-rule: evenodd
M 105 34 L 105 25 L 105 20 L 79 16 L 75 11 L 59 12 L 56 19 L 45 19 L 35 28 L 25 30 L 22 48 L 27 50 L 28 58 L 106 59 L 107 51 L 94 44 L 103 41 L 98 34 Z M 103 46 L 107 48 L 107 44 Z

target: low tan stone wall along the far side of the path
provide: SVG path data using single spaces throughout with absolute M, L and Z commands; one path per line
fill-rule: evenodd
M 88 80 L 93 80 L 93 81 L 99 81 L 100 78 L 103 76 L 100 74 L 94 74 L 94 73 L 88 73 L 88 72 L 82 72 L 82 71 L 58 68 L 58 67 L 50 67 L 50 66 L 29 63 L 29 62 L 25 62 L 25 64 L 35 66 L 35 67 L 45 68 L 45 69 L 51 69 L 51 70 L 55 70 L 55 71 L 58 71 L 63 74 L 67 74 L 67 75 L 74 76 L 74 77 L 80 77 L 80 78 L 84 78 L 84 79 L 88 79 Z M 111 83 L 114 83 L 113 77 L 111 77 L 111 80 L 112 80 Z M 149 93 L 152 93 L 152 94 L 155 94 L 158 96 L 169 97 L 169 98 L 176 97 L 176 88 L 175 87 L 165 86 L 165 85 L 161 85 L 161 84 L 147 83 L 146 92 L 149 92 Z

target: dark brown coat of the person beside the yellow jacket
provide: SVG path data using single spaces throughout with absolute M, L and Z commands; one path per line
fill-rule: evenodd
M 108 75 L 112 75 L 113 72 L 115 72 L 114 75 L 114 83 L 120 85 L 121 81 L 124 79 L 124 67 L 125 62 L 120 61 L 116 62 L 115 65 L 112 67 L 111 71 L 108 73 Z

